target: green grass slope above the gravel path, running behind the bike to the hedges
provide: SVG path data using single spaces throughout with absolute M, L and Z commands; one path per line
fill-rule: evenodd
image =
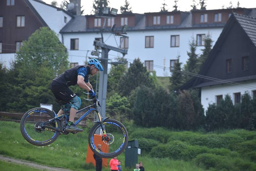
M 29 144 L 20 133 L 20 124 L 15 122 L 0 121 L 1 146 L 0 154 L 12 156 L 17 159 L 26 159 L 36 163 L 62 167 L 73 170 L 85 169 L 85 156 L 88 145 L 88 130 L 85 128 L 83 133 L 76 135 L 60 135 L 58 139 L 44 147 Z M 124 152 L 118 156 L 124 167 Z M 143 161 L 148 171 L 194 171 L 203 170 L 193 162 L 171 159 L 156 159 L 149 156 L 139 156 L 139 161 Z M 95 169 L 86 169 L 94 171 Z M 123 171 L 131 169 L 124 168 Z M 109 167 L 103 169 L 109 171 Z

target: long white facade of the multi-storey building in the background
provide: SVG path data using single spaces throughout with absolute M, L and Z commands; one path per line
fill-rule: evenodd
M 207 34 L 208 32 L 212 36 L 213 45 L 218 39 L 222 28 L 207 28 L 207 29 L 177 29 L 177 30 L 157 30 L 157 31 L 129 31 L 127 32 L 127 36 L 129 36 L 129 48 L 128 54 L 125 55 L 125 58 L 134 59 L 140 58 L 140 60 L 144 63 L 145 60 L 154 60 L 154 65 L 164 66 L 164 58 L 165 58 L 165 67 L 164 69 L 157 68 L 154 66 L 154 70 L 156 71 L 157 76 L 170 76 L 171 73 L 169 71 L 170 60 L 176 59 L 178 54 L 180 55 L 180 62 L 183 64 L 186 63 L 188 59 L 187 51 L 189 51 L 189 40 L 191 36 L 195 37 L 197 34 Z M 108 45 L 117 46 L 116 41 L 119 45 L 120 37 L 116 36 L 116 41 L 114 36 L 108 36 L 110 33 L 104 33 L 104 41 Z M 180 47 L 170 47 L 171 46 L 171 35 L 180 35 Z M 145 48 L 145 36 L 154 36 L 154 48 Z M 79 38 L 79 51 L 70 51 L 69 53 L 69 61 L 70 62 L 78 62 L 79 65 L 83 64 L 85 61 L 85 51 L 80 50 L 93 50 L 93 41 L 95 37 L 100 37 L 100 33 L 69 33 L 63 34 L 64 45 L 70 49 L 70 39 L 71 38 Z M 107 40 L 108 39 L 108 40 Z M 107 41 L 106 41 L 107 40 Z M 204 46 L 198 46 L 196 53 L 200 54 L 201 49 Z M 90 54 L 90 52 L 88 53 Z M 73 56 L 72 56 L 73 55 Z M 111 56 L 114 55 L 114 56 Z M 109 58 L 114 59 L 115 56 L 120 56 L 120 53 L 109 51 Z M 75 57 L 75 56 L 83 56 L 83 57 Z

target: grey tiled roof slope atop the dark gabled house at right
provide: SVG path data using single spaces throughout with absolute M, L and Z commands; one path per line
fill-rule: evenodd
M 234 14 L 234 16 L 256 46 L 256 18 L 241 14 Z

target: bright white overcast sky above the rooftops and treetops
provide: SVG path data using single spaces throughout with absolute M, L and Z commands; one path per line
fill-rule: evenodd
M 51 4 L 53 0 L 43 0 L 47 4 Z M 63 0 L 57 0 L 60 4 Z M 232 2 L 234 7 L 237 7 L 237 0 L 206 0 L 206 9 L 221 9 L 224 5 L 224 8 L 230 6 L 229 3 Z M 82 9 L 84 9 L 84 15 L 91 14 L 92 11 L 92 3 L 94 0 L 81 0 Z M 145 12 L 159 12 L 161 10 L 162 4 L 164 0 L 128 0 L 130 3 L 130 7 L 132 7 L 133 13 L 145 13 Z M 196 0 L 198 3 L 199 0 Z M 124 5 L 124 0 L 109 0 L 109 6 L 111 8 L 118 9 L 118 13 L 120 13 L 120 6 Z M 172 6 L 174 5 L 174 0 L 165 0 L 165 4 L 167 4 L 168 11 L 172 11 Z M 192 4 L 192 0 L 179 0 L 178 10 L 180 11 L 190 11 Z M 239 6 L 243 8 L 256 8 L 256 0 L 240 0 Z M 200 6 L 198 6 L 200 8 Z

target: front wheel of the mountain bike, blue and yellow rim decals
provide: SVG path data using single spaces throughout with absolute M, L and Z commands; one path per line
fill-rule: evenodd
M 121 154 L 128 143 L 128 133 L 122 123 L 114 119 L 106 119 L 103 122 L 106 135 L 109 141 L 102 140 L 102 130 L 100 123 L 96 123 L 88 137 L 89 146 L 97 156 L 102 158 L 113 158 Z M 101 144 L 101 149 L 97 147 Z

